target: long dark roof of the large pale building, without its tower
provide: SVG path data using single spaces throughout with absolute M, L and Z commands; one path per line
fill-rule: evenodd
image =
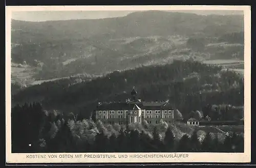
M 165 102 L 141 102 L 138 100 L 129 102 L 102 102 L 97 106 L 97 110 L 129 110 L 129 109 L 173 109 Z

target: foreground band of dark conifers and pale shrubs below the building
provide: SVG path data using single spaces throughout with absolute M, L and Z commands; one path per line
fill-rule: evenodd
M 39 103 L 12 108 L 12 152 L 243 152 L 243 134 L 182 132 L 157 125 L 106 125 L 43 110 Z

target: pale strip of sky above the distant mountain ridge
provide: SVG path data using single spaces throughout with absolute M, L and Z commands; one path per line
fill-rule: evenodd
M 99 19 L 108 17 L 121 17 L 134 11 L 22 11 L 12 12 L 12 19 L 26 20 L 26 21 L 46 21 L 46 20 L 71 20 L 71 19 Z M 174 12 L 174 11 L 169 11 Z M 200 15 L 218 14 L 218 15 L 230 15 L 239 14 L 242 15 L 243 11 L 201 11 L 201 10 L 187 10 L 176 11 L 184 13 L 195 13 Z

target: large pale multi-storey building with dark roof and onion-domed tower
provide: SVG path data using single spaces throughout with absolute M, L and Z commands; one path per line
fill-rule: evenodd
M 174 120 L 174 110 L 168 101 L 145 102 L 136 99 L 137 91 L 133 88 L 132 100 L 126 102 L 99 102 L 95 113 L 96 119 L 110 124 L 142 123 L 157 124 L 162 119 L 167 123 Z

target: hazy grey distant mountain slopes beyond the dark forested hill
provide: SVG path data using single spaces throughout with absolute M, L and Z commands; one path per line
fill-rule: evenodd
M 162 11 L 91 20 L 12 20 L 12 62 L 25 61 L 39 80 L 77 73 L 101 75 L 191 56 L 243 59 L 243 22 L 242 15 Z

